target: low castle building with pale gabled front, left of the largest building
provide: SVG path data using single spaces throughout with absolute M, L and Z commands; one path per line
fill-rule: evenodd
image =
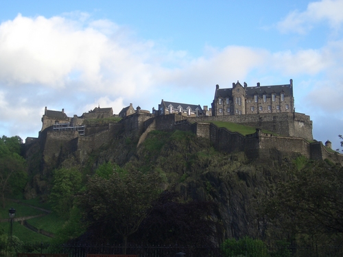
M 167 114 L 181 114 L 186 117 L 199 117 L 204 115 L 204 112 L 200 105 L 176 103 L 173 101 L 164 101 L 163 99 L 161 101 L 161 104 L 158 104 L 158 110 L 154 110 L 154 113 L 157 116 Z

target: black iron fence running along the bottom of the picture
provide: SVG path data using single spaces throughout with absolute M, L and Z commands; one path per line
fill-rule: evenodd
M 49 245 L 43 243 L 21 245 L 16 253 L 68 254 L 69 257 L 86 257 L 86 254 L 123 254 L 122 245 Z M 139 257 L 343 257 L 342 246 L 307 247 L 182 247 L 178 245 L 128 245 L 126 254 L 138 254 Z M 12 256 L 16 254 L 13 253 Z

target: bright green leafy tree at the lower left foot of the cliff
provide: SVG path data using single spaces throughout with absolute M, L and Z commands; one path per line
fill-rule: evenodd
M 80 191 L 82 174 L 75 168 L 56 169 L 53 172 L 53 186 L 49 195 L 52 209 L 64 219 L 69 218 L 69 212 L 73 206 L 73 199 Z

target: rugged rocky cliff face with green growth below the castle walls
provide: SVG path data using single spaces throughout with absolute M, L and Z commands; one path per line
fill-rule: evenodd
M 246 235 L 263 237 L 267 224 L 258 217 L 259 193 L 268 191 L 266 181 L 274 180 L 274 171 L 292 156 L 270 152 L 268 162 L 248 160 L 243 152 L 226 154 L 216 151 L 209 139 L 191 132 L 154 130 L 138 145 L 139 137 L 126 132 L 111 134 L 97 149 L 66 147 L 62 140 L 36 142 L 27 149 L 32 181 L 27 185 L 27 198 L 40 195 L 47 199 L 51 171 L 60 167 L 78 167 L 84 175 L 92 174 L 104 162 L 141 171 L 158 171 L 165 175 L 166 190 L 178 191 L 185 200 L 214 201 L 213 219 L 220 221 L 223 238 Z M 68 143 L 69 144 L 69 143 Z M 69 151 L 67 151 L 69 149 Z M 73 149 L 73 150 L 72 150 Z M 296 156 L 296 155 L 294 155 Z

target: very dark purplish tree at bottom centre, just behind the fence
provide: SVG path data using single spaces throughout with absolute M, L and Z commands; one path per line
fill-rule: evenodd
M 182 201 L 177 193 L 163 192 L 134 238 L 152 245 L 214 247 L 213 238 L 222 232 L 215 203 Z

